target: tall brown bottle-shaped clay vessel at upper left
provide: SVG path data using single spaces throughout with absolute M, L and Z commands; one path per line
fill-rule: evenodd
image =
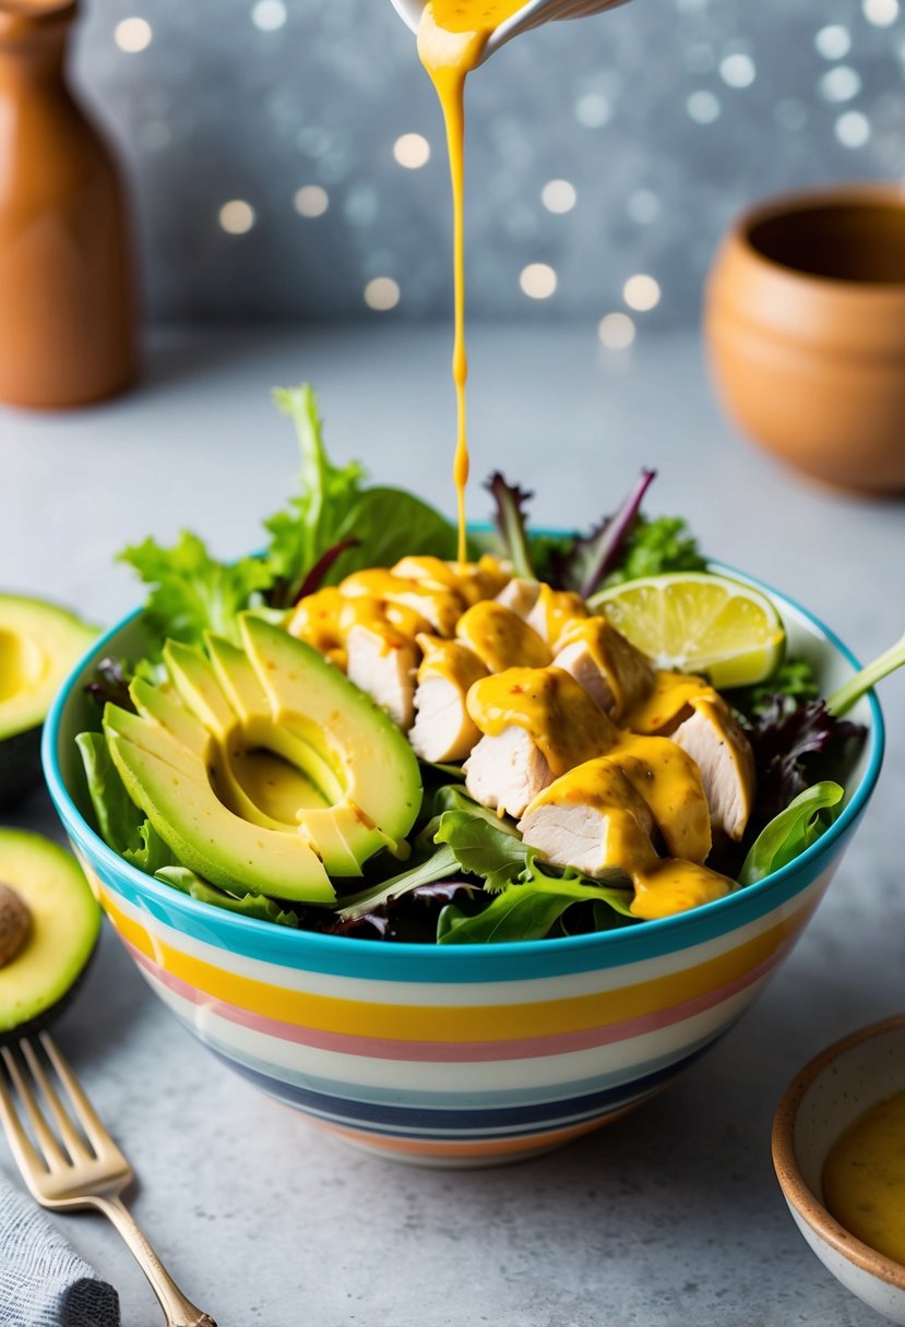
M 76 0 L 0 0 L 0 398 L 45 409 L 137 369 L 115 162 L 66 84 Z

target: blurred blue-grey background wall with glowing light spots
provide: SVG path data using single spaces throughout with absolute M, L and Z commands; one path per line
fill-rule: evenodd
M 134 178 L 155 316 L 376 317 L 374 277 L 399 288 L 385 317 L 447 312 L 439 111 L 389 0 L 86 0 L 77 72 Z M 430 145 L 415 170 L 394 158 L 410 133 Z M 471 80 L 467 167 L 474 316 L 597 318 L 648 273 L 642 317 L 687 321 L 742 204 L 905 175 L 905 13 L 632 0 L 551 24 Z M 575 187 L 565 214 L 541 202 L 552 179 Z M 320 216 L 296 210 L 307 186 Z M 253 211 L 243 234 L 223 228 L 231 200 Z M 523 293 L 531 263 L 552 297 Z

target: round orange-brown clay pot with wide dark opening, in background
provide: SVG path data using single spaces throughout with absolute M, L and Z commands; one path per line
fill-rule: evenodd
M 905 191 L 848 184 L 743 215 L 707 280 L 705 337 L 754 442 L 836 487 L 905 492 Z

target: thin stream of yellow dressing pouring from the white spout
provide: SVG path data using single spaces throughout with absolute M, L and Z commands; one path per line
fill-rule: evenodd
M 468 427 L 466 382 L 468 357 L 464 344 L 464 81 L 480 64 L 494 28 L 510 19 L 524 0 L 430 0 L 418 28 L 418 56 L 437 96 L 450 157 L 452 184 L 452 283 L 455 337 L 452 342 L 452 382 L 456 399 L 456 441 L 452 480 L 459 518 L 459 561 L 464 563 L 466 484 L 468 482 Z

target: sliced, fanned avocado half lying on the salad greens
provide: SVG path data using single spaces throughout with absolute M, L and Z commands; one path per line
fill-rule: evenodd
M 169 642 L 170 683 L 104 733 L 131 800 L 191 871 L 234 894 L 330 904 L 421 807 L 405 735 L 317 650 L 253 614 L 243 648 Z

